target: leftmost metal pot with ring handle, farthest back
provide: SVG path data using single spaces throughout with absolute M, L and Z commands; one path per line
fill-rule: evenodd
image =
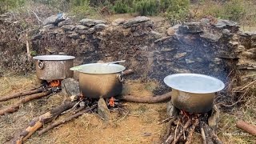
M 39 79 L 52 81 L 73 77 L 70 70 L 74 66 L 74 57 L 69 55 L 41 55 L 34 57 L 36 74 Z

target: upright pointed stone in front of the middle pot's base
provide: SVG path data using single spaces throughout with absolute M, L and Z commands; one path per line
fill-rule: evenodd
M 104 121 L 109 121 L 111 119 L 110 110 L 106 106 L 106 102 L 103 98 L 98 100 L 98 115 L 104 119 Z

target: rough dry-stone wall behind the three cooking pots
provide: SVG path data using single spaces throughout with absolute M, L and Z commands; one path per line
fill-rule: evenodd
M 227 82 L 234 70 L 242 73 L 242 80 L 255 79 L 256 34 L 242 33 L 235 22 L 204 18 L 164 33 L 146 17 L 74 23 L 52 16 L 44 24 L 30 34 L 30 50 L 74 55 L 75 65 L 125 59 L 124 65 L 136 71 L 134 78 L 159 82 L 175 73 L 208 74 Z M 6 51 L 11 50 L 1 48 L 1 54 Z M 20 54 L 26 54 L 26 49 Z

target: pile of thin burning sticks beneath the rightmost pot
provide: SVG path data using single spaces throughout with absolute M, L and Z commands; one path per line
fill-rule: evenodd
M 214 106 L 214 109 L 216 106 Z M 174 109 L 178 110 L 178 109 Z M 204 144 L 206 143 L 222 143 L 218 136 L 214 134 L 214 128 L 208 125 L 209 118 L 214 117 L 214 112 L 195 114 L 189 113 L 185 110 L 178 110 L 173 118 L 170 118 L 165 135 L 165 142 L 167 143 L 186 143 L 192 142 L 194 131 L 201 133 Z

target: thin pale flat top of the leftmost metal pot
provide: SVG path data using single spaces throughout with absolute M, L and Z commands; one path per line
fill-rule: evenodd
M 74 56 L 70 55 L 38 55 L 33 57 L 33 59 L 41 61 L 64 61 L 74 59 Z

